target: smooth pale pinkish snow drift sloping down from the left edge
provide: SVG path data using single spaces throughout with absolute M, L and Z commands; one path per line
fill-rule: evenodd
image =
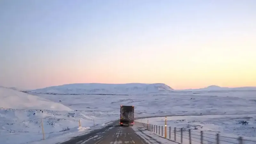
M 19 92 L 11 88 L 0 87 L 0 108 L 13 109 L 47 109 L 67 110 L 72 109 L 44 98 Z

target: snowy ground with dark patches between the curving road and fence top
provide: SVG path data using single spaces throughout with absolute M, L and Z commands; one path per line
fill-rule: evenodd
M 157 126 L 164 126 L 165 117 L 155 117 L 137 120 L 142 123 L 149 123 Z M 191 129 L 191 134 L 200 137 L 200 131 L 204 136 L 215 138 L 215 134 L 219 133 L 221 138 L 232 137 L 237 138 L 243 136 L 247 140 L 256 140 L 256 115 L 211 115 L 211 116 L 168 116 L 167 128 L 169 137 L 169 127 L 174 131 L 174 127 L 178 133 L 180 128 L 183 129 L 183 135 Z M 160 129 L 161 131 L 161 129 Z M 197 134 L 197 135 L 196 135 Z M 161 132 L 160 132 L 161 135 Z M 178 134 L 177 134 L 178 135 Z M 194 137 L 195 137 L 194 136 Z M 173 136 L 172 136 L 173 137 Z M 222 139 L 224 139 L 223 137 Z M 180 139 L 178 136 L 177 139 Z M 236 139 L 228 139 L 228 141 L 237 141 Z M 199 140 L 199 139 L 198 139 Z M 198 141 L 197 140 L 197 141 Z M 220 139 L 221 140 L 221 139 Z M 184 141 L 184 140 L 183 140 Z M 214 141 L 214 140 L 213 140 Z M 223 143 L 223 142 L 222 142 Z M 248 142 L 247 142 L 248 143 Z M 245 143 L 246 144 L 246 143 Z

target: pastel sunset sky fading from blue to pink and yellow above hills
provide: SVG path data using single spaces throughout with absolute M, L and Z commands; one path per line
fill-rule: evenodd
M 256 86 L 255 0 L 1 0 L 0 85 Z

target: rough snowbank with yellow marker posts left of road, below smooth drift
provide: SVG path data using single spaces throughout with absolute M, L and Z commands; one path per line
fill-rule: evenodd
M 40 141 L 43 138 L 41 119 L 44 124 L 45 139 L 61 137 L 67 140 L 69 136 L 76 136 L 110 120 L 109 117 L 95 117 L 86 111 L 52 111 L 52 110 L 21 110 L 0 108 L 0 140 L 4 144 L 25 144 Z M 82 128 L 78 128 L 78 121 Z M 63 139 L 62 139 L 63 138 Z M 50 140 L 51 141 L 51 140 Z M 42 141 L 44 143 L 44 141 Z M 57 143 L 57 142 L 56 142 Z

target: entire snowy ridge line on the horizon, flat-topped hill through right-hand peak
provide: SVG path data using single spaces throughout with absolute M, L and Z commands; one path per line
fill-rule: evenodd
M 27 90 L 27 92 L 37 92 L 44 94 L 97 94 L 97 95 L 131 95 L 134 93 L 154 93 L 154 92 L 227 92 L 227 91 L 256 91 L 256 87 L 220 87 L 211 85 L 200 89 L 185 89 L 174 90 L 170 86 L 162 83 L 157 84 L 142 84 L 142 83 L 129 83 L 129 84 L 101 84 L 101 83 L 88 83 L 88 84 L 64 84 L 59 86 L 50 86 L 46 88 Z

